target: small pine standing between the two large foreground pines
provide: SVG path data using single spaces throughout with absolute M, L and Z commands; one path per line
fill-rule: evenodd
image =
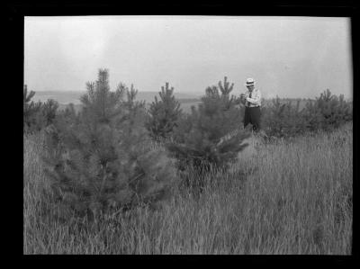
M 166 82 L 158 92 L 160 100 L 155 96 L 155 102 L 148 109 L 148 120 L 146 123 L 148 132 L 152 139 L 157 141 L 168 138 L 177 125 L 182 113 L 180 103 L 175 100 L 174 87 L 169 88 Z

